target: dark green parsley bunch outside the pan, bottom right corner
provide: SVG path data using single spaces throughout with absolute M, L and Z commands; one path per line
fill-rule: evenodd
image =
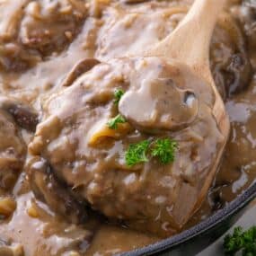
M 236 252 L 242 252 L 243 256 L 256 255 L 256 226 L 244 232 L 241 226 L 235 227 L 233 234 L 225 236 L 224 248 L 226 255 L 234 256 Z

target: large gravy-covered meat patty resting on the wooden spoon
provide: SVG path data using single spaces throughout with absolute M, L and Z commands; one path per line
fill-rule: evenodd
M 178 78 L 177 73 L 181 74 Z M 126 92 L 125 101 L 127 93 L 151 88 L 157 79 L 171 78 L 180 78 L 180 84 L 171 85 L 176 91 L 190 90 L 199 98 L 199 112 L 190 127 L 173 133 L 170 129 L 160 134 L 155 131 L 156 136 L 144 133 L 140 124 L 137 129 L 129 122 L 117 130 L 107 127 L 108 120 L 118 114 L 113 101 L 115 89 Z M 171 92 L 163 101 L 172 101 L 176 92 Z M 213 101 L 209 85 L 188 75 L 184 66 L 179 69 L 156 57 L 119 59 L 95 66 L 44 103 L 44 117 L 29 146 L 37 159 L 29 172 L 45 168 L 42 163 L 48 161 L 58 180 L 66 182 L 78 197 L 104 215 L 137 223 L 137 228 L 157 234 L 175 233 L 207 193 L 204 185 L 208 182 L 206 187 L 209 186 L 207 175 L 223 139 L 211 116 Z M 141 101 L 137 113 L 145 112 L 150 103 L 150 98 Z M 121 99 L 121 113 L 129 112 L 135 103 L 130 104 L 123 106 Z M 184 111 L 181 103 L 175 111 L 177 116 Z M 172 120 L 167 121 L 172 124 Z M 155 123 L 151 124 L 153 130 L 157 128 Z M 130 168 L 124 161 L 129 144 L 155 137 L 177 139 L 179 151 L 175 161 L 164 165 L 152 158 Z M 45 194 L 44 190 L 41 192 Z M 181 198 L 186 193 L 190 198 L 184 204 Z

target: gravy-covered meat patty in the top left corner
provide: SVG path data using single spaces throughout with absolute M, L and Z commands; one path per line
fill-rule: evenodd
M 0 66 L 21 71 L 65 49 L 86 14 L 82 0 L 0 2 Z

